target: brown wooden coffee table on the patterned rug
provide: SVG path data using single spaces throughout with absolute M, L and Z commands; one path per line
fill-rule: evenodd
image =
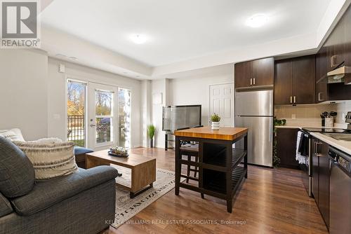
M 127 158 L 110 156 L 107 150 L 86 153 L 86 169 L 110 164 L 131 169 L 131 185 L 116 183 L 130 191 L 131 198 L 152 188 L 156 181 L 156 158 L 135 153 L 129 153 Z

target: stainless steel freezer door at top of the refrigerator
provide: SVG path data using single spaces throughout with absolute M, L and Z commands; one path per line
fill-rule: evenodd
M 273 90 L 236 91 L 235 116 L 273 116 Z

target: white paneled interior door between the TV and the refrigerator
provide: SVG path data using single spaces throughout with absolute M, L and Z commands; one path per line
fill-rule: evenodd
M 234 83 L 210 85 L 210 113 L 220 116 L 220 125 L 234 126 Z

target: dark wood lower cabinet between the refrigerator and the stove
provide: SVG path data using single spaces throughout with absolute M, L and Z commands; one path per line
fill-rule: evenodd
M 280 167 L 298 169 L 296 161 L 296 139 L 298 128 L 277 128 L 277 156 L 280 158 Z

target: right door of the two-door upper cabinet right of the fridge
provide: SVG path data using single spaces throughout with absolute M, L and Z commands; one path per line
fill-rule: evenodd
M 315 56 L 298 57 L 293 60 L 293 103 L 314 103 Z

